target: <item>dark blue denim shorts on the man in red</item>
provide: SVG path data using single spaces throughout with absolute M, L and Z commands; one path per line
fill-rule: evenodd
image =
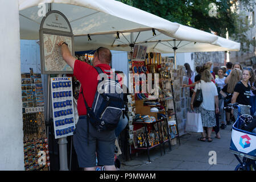
M 99 132 L 89 122 L 88 136 L 87 122 L 85 115 L 80 116 L 76 130 L 73 133 L 73 143 L 79 167 L 96 167 L 96 153 L 98 166 L 113 166 L 115 144 L 114 130 Z

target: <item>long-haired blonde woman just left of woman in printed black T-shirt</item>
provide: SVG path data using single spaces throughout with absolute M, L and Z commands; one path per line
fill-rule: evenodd
M 231 103 L 231 98 L 234 92 L 234 87 L 236 86 L 237 82 L 241 80 L 242 72 L 240 69 L 234 69 L 230 73 L 229 83 L 221 89 L 220 94 L 224 97 L 224 107 L 228 106 Z M 225 79 L 226 80 L 226 79 Z M 231 125 L 230 121 L 230 109 L 226 109 L 226 124 Z

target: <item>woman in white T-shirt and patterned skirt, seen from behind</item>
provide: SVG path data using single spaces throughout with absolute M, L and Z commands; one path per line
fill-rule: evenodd
M 193 108 L 193 101 L 195 99 L 196 90 L 201 89 L 203 94 L 203 102 L 199 107 L 196 107 L 196 113 L 201 113 L 203 127 L 207 127 L 207 134 L 205 131 L 201 133 L 202 137 L 198 140 L 205 142 L 212 142 L 211 133 L 214 126 L 216 126 L 215 113 L 218 113 L 218 92 L 216 85 L 212 82 L 212 74 L 209 69 L 205 69 L 201 73 L 201 80 L 199 84 L 196 84 L 195 90 L 191 98 L 191 109 Z

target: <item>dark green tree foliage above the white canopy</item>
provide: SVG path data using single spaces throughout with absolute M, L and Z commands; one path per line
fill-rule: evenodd
M 218 36 L 229 36 L 238 42 L 255 44 L 246 38 L 250 28 L 245 24 L 245 16 L 241 16 L 236 8 L 236 1 L 229 0 L 119 0 L 127 5 L 137 7 L 148 13 L 160 16 L 171 22 L 197 28 L 206 32 L 214 32 Z M 214 5 L 216 6 L 212 6 Z M 254 0 L 241 0 L 245 11 L 252 11 Z

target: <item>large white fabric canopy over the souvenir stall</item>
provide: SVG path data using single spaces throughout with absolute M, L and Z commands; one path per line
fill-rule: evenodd
M 131 51 L 130 44 L 134 43 L 145 44 L 148 51 L 161 53 L 174 52 L 174 47 L 176 52 L 240 49 L 240 43 L 170 22 L 114 0 L 19 0 L 20 39 L 39 39 L 43 18 L 38 16 L 40 3 L 61 11 L 68 18 L 75 36 L 75 51 L 99 46 Z M 88 40 L 88 34 L 92 40 Z M 117 34 L 119 39 L 116 39 Z

